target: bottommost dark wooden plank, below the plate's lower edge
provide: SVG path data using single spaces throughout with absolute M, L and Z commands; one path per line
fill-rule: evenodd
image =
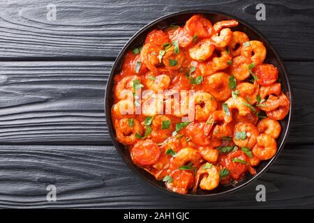
M 314 146 L 285 146 L 252 185 L 193 200 L 160 192 L 135 176 L 112 146 L 0 146 L 1 208 L 313 208 Z M 47 202 L 47 185 L 57 202 Z M 255 201 L 265 185 L 266 202 Z

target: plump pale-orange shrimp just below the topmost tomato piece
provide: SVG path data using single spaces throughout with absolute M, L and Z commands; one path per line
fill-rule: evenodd
M 188 49 L 190 58 L 195 61 L 206 61 L 213 54 L 215 46 L 210 39 L 201 40 L 197 45 Z

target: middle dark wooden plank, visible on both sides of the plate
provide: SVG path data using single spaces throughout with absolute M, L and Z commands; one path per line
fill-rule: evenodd
M 314 62 L 287 62 L 288 142 L 314 144 Z M 0 144 L 111 144 L 103 97 L 112 62 L 0 62 Z

